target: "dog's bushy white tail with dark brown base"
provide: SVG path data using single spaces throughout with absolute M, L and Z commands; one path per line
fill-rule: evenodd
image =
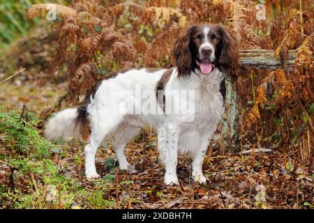
M 45 138 L 52 141 L 57 139 L 78 138 L 81 130 L 87 125 L 85 107 L 65 109 L 58 112 L 45 125 Z

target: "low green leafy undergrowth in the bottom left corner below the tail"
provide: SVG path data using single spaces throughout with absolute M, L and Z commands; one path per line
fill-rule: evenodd
M 90 190 L 80 180 L 66 176 L 52 159 L 63 151 L 38 133 L 38 121 L 23 111 L 0 108 L 1 143 L 8 151 L 1 164 L 10 169 L 10 182 L 0 185 L 0 208 L 112 207 L 112 201 L 103 199 L 105 183 Z

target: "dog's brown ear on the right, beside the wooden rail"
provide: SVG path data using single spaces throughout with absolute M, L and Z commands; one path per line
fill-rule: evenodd
M 221 41 L 221 52 L 218 59 L 218 68 L 221 72 L 228 75 L 236 75 L 240 66 L 240 54 L 235 38 L 223 26 L 218 27 L 223 39 Z

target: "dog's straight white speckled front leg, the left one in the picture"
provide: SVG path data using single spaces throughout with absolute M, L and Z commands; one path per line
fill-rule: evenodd
M 165 138 L 165 160 L 163 160 L 165 164 L 164 182 L 166 185 L 179 185 L 177 176 L 179 132 L 176 125 L 173 123 L 165 125 Z

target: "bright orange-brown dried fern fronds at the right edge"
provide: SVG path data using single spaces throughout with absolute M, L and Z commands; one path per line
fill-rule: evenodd
M 246 118 L 246 125 L 249 128 L 260 118 L 260 109 L 263 109 L 264 104 L 267 102 L 266 93 L 267 84 L 269 83 L 278 93 L 276 99 L 273 100 L 276 105 L 274 113 L 280 110 L 283 111 L 293 105 L 299 105 L 299 103 L 303 103 L 306 107 L 308 102 L 313 102 L 313 41 L 314 34 L 306 38 L 299 47 L 293 72 L 286 74 L 282 68 L 279 68 L 264 78 L 262 84 L 257 88 L 257 98 Z

